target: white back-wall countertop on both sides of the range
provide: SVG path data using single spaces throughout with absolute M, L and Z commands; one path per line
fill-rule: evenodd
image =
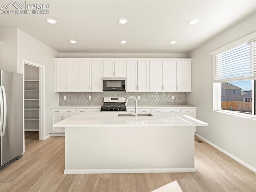
M 100 108 L 101 105 L 58 105 L 50 109 L 78 109 L 78 108 Z M 128 105 L 126 108 L 134 108 L 134 105 Z M 138 108 L 196 108 L 190 105 L 138 105 Z

